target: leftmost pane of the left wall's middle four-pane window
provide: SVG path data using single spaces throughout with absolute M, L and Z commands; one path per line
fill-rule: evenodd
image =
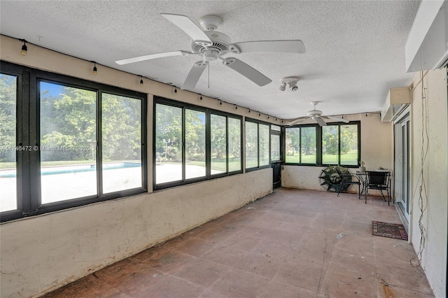
M 155 183 L 182 180 L 182 108 L 155 105 Z

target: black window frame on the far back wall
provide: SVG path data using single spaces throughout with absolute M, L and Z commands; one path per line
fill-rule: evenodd
M 297 162 L 286 162 L 286 154 L 284 155 L 284 158 L 282 159 L 284 164 L 290 165 L 290 166 L 344 166 L 346 168 L 356 168 L 360 166 L 361 161 L 361 122 L 360 121 L 350 121 L 349 123 L 342 123 L 342 122 L 328 122 L 327 125 L 333 125 L 337 126 L 337 134 L 338 134 L 338 150 L 337 150 L 337 164 L 324 164 L 322 162 L 322 156 L 323 156 L 323 148 L 322 148 L 322 127 L 317 124 L 305 124 L 305 125 L 291 125 L 291 126 L 283 126 L 281 131 L 283 134 L 283 152 L 286 152 L 286 129 L 288 128 L 295 128 L 295 127 L 316 127 L 316 163 L 315 164 L 309 164 L 309 163 L 297 163 Z M 358 132 L 358 161 L 357 164 L 343 164 L 341 163 L 341 126 L 344 125 L 357 125 L 357 132 Z M 301 142 L 301 135 L 299 136 L 300 142 Z

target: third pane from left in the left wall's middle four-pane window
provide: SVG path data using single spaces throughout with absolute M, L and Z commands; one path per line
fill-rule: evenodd
M 225 171 L 227 171 L 227 136 L 225 120 L 225 116 L 210 115 L 210 155 L 212 175 L 216 173 L 225 173 Z

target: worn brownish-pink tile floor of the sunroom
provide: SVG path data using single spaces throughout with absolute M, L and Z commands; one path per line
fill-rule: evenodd
M 44 297 L 433 297 L 380 197 L 277 189 Z

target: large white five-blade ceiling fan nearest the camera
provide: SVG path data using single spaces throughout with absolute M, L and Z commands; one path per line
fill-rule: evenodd
M 120 65 L 130 64 L 169 56 L 197 55 L 202 57 L 200 61 L 193 64 L 181 89 L 193 89 L 209 62 L 217 59 L 221 59 L 225 66 L 237 71 L 237 73 L 245 76 L 253 81 L 253 83 L 259 86 L 264 86 L 271 83 L 272 80 L 241 60 L 235 57 L 224 56 L 229 53 L 240 54 L 246 52 L 305 52 L 304 44 L 300 40 L 245 41 L 241 43 L 232 43 L 229 36 L 222 32 L 215 31 L 216 28 L 218 28 L 218 25 L 223 23 L 221 17 L 216 15 L 205 15 L 200 18 L 200 24 L 206 31 L 202 31 L 202 29 L 200 29 L 200 27 L 186 15 L 173 15 L 168 13 L 161 13 L 161 15 L 190 36 L 193 40 L 190 47 L 191 51 L 177 50 L 174 52 L 159 52 L 118 60 L 116 63 Z

